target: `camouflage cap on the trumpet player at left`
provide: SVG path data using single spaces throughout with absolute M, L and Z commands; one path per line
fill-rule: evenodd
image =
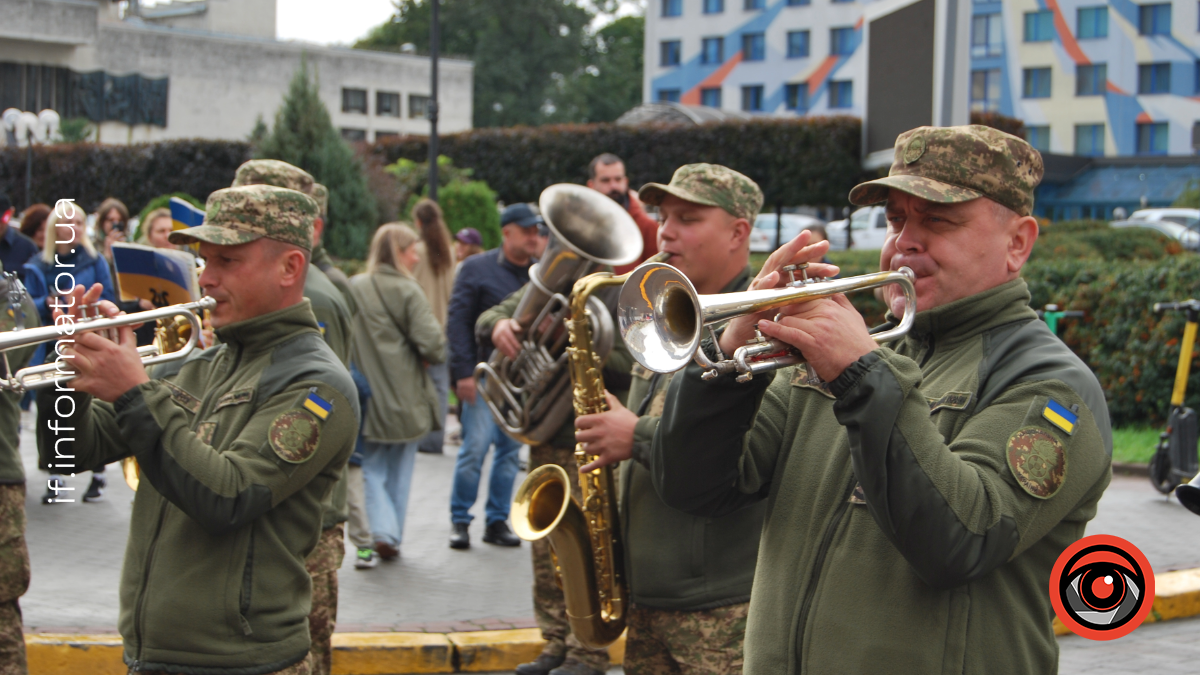
M 311 251 L 316 217 L 317 202 L 295 190 L 275 185 L 226 187 L 209 195 L 203 225 L 176 229 L 168 239 L 172 244 L 236 246 L 265 237 Z

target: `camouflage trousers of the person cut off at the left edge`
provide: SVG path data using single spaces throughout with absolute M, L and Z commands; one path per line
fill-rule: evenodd
M 18 602 L 26 589 L 25 485 L 0 485 L 0 675 L 29 673 Z

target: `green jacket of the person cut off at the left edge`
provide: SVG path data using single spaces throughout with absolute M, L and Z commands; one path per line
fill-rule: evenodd
M 4 268 L 0 267 L 0 271 Z M 4 277 L 0 277 L 0 335 L 20 328 L 37 328 L 41 321 L 37 317 L 37 307 L 24 292 L 24 287 L 16 281 L 16 288 L 10 288 Z M 13 291 L 10 294 L 10 291 Z M 37 345 L 30 345 L 19 350 L 5 352 L 8 359 L 8 368 L 13 372 L 0 372 L 0 377 L 7 377 L 20 370 L 34 356 Z M 4 369 L 4 362 L 0 362 Z M 20 461 L 18 450 L 17 429 L 20 426 L 20 394 L 7 389 L 0 390 L 0 485 L 24 485 L 25 466 Z

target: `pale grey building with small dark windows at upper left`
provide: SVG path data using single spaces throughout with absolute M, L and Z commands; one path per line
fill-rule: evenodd
M 244 139 L 301 61 L 347 139 L 428 133 L 427 56 L 275 40 L 275 0 L 0 2 L 0 109 L 86 118 L 104 143 Z M 473 70 L 439 60 L 439 131 L 470 129 Z

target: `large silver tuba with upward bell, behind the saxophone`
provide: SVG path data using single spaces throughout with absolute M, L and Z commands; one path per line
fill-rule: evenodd
M 571 412 L 568 396 L 566 293 L 600 265 L 622 265 L 642 253 L 637 223 L 617 202 L 582 185 L 551 185 L 538 202 L 552 233 L 541 259 L 529 268 L 529 285 L 512 319 L 521 327 L 521 353 L 499 350 L 475 366 L 479 394 L 509 436 L 538 444 L 548 441 Z M 602 362 L 616 329 L 600 300 L 588 297 L 593 351 Z

